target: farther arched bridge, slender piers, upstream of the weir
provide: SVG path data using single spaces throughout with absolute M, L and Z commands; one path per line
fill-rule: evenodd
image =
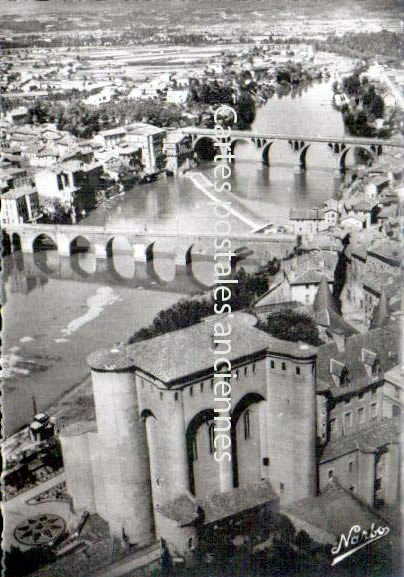
M 253 142 L 260 149 L 260 157 L 264 164 L 270 165 L 271 147 L 276 141 L 286 141 L 296 153 L 296 169 L 306 169 L 306 156 L 313 143 L 322 143 L 329 147 L 336 158 L 336 169 L 344 172 L 346 169 L 346 157 L 350 150 L 366 150 L 372 160 L 383 154 L 385 148 L 404 149 L 404 142 L 385 140 L 380 138 L 360 138 L 349 136 L 302 136 L 296 134 L 274 134 L 270 132 L 253 132 L 251 130 L 232 130 L 229 138 L 220 138 L 213 128 L 187 127 L 182 132 L 192 139 L 194 151 L 198 142 L 203 139 L 218 142 L 218 149 L 222 154 L 226 150 L 234 154 L 238 142 Z

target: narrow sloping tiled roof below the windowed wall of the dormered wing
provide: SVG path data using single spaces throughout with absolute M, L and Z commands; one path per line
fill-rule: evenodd
M 372 452 L 387 443 L 396 443 L 398 440 L 399 424 L 396 419 L 375 420 L 361 431 L 327 443 L 321 454 L 320 463 L 338 459 L 357 450 L 365 453 Z

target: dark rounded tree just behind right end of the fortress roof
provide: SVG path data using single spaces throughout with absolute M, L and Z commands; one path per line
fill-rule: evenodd
M 291 309 L 269 315 L 265 322 L 259 323 L 258 328 L 285 341 L 303 341 L 313 346 L 321 344 L 314 320 Z

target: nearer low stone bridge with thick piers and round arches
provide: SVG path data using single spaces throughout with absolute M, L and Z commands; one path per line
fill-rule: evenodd
M 192 278 L 192 262 L 212 260 L 215 253 L 214 241 L 228 238 L 231 251 L 236 254 L 233 262 L 253 257 L 255 262 L 264 263 L 273 257 L 284 258 L 296 245 L 291 234 L 268 237 L 259 233 L 220 235 L 213 233 L 163 233 L 135 231 L 133 228 L 102 227 L 86 225 L 22 224 L 4 227 L 6 241 L 11 249 L 20 249 L 23 254 L 42 252 L 45 248 L 56 249 L 61 257 L 71 257 L 79 252 L 92 252 L 97 261 L 97 270 L 106 270 L 103 262 L 115 252 L 114 241 L 124 240 L 126 251 L 133 255 L 137 265 L 146 267 L 153 276 L 153 261 L 158 256 L 169 256 L 180 269 Z M 118 251 L 119 252 L 119 251 Z M 140 268 L 142 268 L 140 266 Z M 157 277 L 158 275 L 154 275 Z

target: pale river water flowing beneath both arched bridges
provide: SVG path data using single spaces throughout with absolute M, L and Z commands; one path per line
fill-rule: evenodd
M 346 61 L 344 62 L 346 66 Z M 257 111 L 253 129 L 291 134 L 334 135 L 344 132 L 341 115 L 331 106 L 331 84 L 316 83 L 286 96 L 274 96 Z M 291 207 L 321 204 L 341 184 L 335 179 L 335 158 L 326 145 L 313 145 L 307 171 L 295 175 L 295 153 L 288 143 L 275 143 L 270 166 L 259 150 L 240 143 L 232 164 L 233 206 L 255 224 L 285 219 Z M 200 167 L 213 178 L 213 167 Z M 208 198 L 187 177 L 134 187 L 125 196 L 99 207 L 85 222 L 134 229 L 212 231 L 214 215 Z M 251 226 L 231 217 L 232 232 Z M 186 279 L 160 286 L 145 271 L 135 270 L 124 239 L 105 270 L 95 270 L 91 254 L 60 259 L 54 252 L 35 256 L 14 253 L 4 259 L 4 414 L 8 433 L 23 425 L 37 409 L 45 409 L 88 374 L 86 357 L 93 350 L 128 338 L 149 324 L 162 308 L 197 287 Z M 172 259 L 157 246 L 156 268 L 169 281 Z M 118 250 L 117 250 L 118 249 Z M 44 262 L 44 260 L 46 262 Z M 46 265 L 46 266 L 45 266 Z M 201 280 L 209 277 L 207 263 L 196 266 Z

